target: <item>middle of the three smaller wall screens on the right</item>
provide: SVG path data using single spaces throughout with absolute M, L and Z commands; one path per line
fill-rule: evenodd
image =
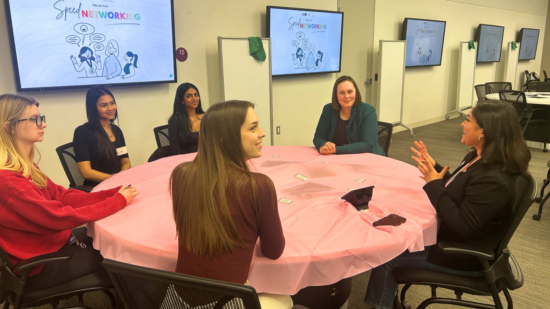
M 476 62 L 499 62 L 502 49 L 503 26 L 479 24 L 477 26 Z

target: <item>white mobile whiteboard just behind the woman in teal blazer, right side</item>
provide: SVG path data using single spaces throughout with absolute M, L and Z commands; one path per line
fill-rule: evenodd
M 380 40 L 378 54 L 378 120 L 403 126 L 414 137 L 412 129 L 403 124 L 406 41 Z

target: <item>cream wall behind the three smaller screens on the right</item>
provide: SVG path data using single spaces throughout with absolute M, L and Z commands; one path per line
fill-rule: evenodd
M 408 0 L 376 1 L 372 78 L 378 69 L 378 40 L 399 40 L 405 17 L 447 21 L 441 66 L 405 69 L 403 107 L 405 124 L 417 126 L 443 120 L 444 114 L 455 107 L 459 41 L 475 41 L 478 24 L 504 26 L 501 61 L 476 65 L 475 83 L 483 84 L 503 79 L 505 42 L 515 41 L 522 27 L 541 29 L 537 59 L 518 64 L 516 81 L 522 80 L 524 70 L 540 69 L 546 6 L 547 0 L 426 0 L 421 4 Z M 375 82 L 372 102 L 376 100 L 376 90 Z

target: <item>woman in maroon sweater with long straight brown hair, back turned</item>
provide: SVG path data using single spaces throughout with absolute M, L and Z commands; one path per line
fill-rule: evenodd
M 258 237 L 267 258 L 284 250 L 271 179 L 247 161 L 262 155 L 254 104 L 226 101 L 201 120 L 199 151 L 172 172 L 171 194 L 179 236 L 176 272 L 228 282 L 247 282 Z M 288 295 L 260 293 L 262 308 L 290 308 Z

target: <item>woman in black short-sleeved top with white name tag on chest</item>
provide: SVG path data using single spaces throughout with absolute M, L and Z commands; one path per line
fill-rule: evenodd
M 131 167 L 122 130 L 114 124 L 117 103 L 105 87 L 86 93 L 88 122 L 74 130 L 73 148 L 84 185 L 96 186 L 113 174 Z

